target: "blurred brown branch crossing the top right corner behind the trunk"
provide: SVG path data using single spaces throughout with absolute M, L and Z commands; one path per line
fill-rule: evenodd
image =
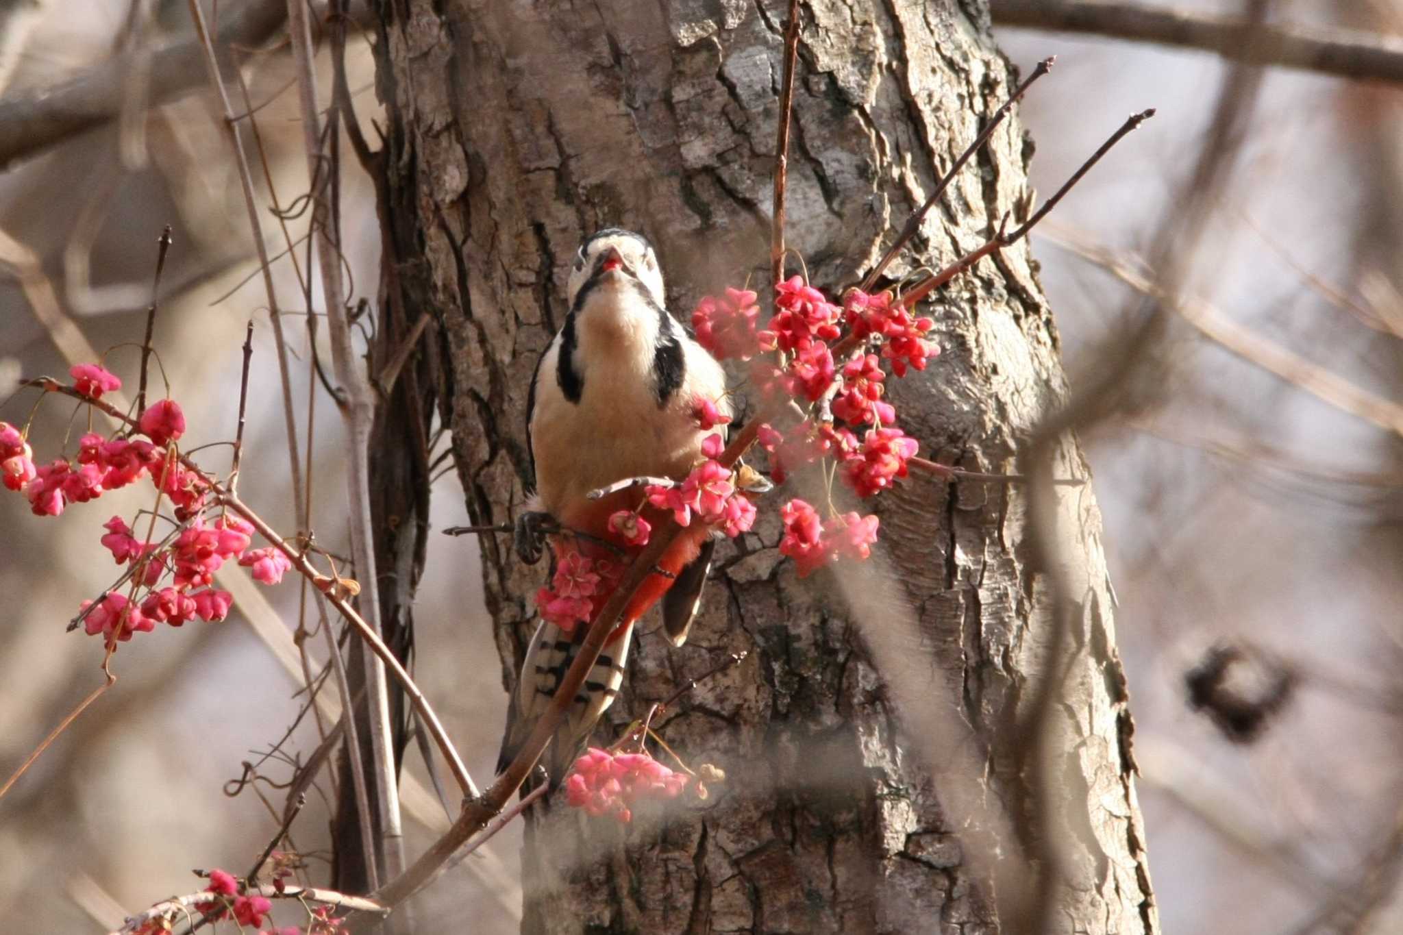
M 1343 79 L 1403 81 L 1403 39 L 1375 32 L 1254 24 L 1250 18 L 1111 0 L 992 0 L 989 11 L 1002 25 L 1177 45 Z

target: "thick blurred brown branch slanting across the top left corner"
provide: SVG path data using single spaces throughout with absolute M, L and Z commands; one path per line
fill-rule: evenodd
M 258 45 L 282 24 L 281 0 L 233 4 L 220 17 L 219 42 Z M 0 170 L 122 114 L 130 73 L 140 56 L 150 56 L 154 102 L 170 101 L 199 86 L 202 41 L 180 39 L 154 52 L 114 56 L 58 87 L 7 95 L 0 101 Z

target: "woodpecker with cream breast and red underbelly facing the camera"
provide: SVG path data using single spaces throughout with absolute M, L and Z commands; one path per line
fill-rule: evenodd
M 640 551 L 609 528 L 609 517 L 637 507 L 643 489 L 596 500 L 586 495 L 624 478 L 685 478 L 703 457 L 709 435 L 697 421 L 697 402 L 710 400 L 730 415 L 725 371 L 666 311 L 662 271 L 645 237 L 610 227 L 585 240 L 570 272 L 568 299 L 565 324 L 536 363 L 526 397 L 536 492 L 518 520 L 516 551 L 528 564 L 539 561 L 540 530 L 549 521 L 561 530 L 553 537 L 553 559 L 574 533 L 584 535 L 571 547 L 592 555 Z M 654 526 L 666 520 L 651 506 L 643 516 Z M 658 561 L 661 573 L 644 580 L 542 758 L 551 786 L 564 781 L 613 704 L 634 621 L 661 599 L 664 632 L 676 646 L 686 641 L 713 548 L 711 531 L 693 523 Z M 537 627 L 512 698 L 498 772 L 544 712 L 586 631 L 579 624 L 567 634 L 544 620 Z

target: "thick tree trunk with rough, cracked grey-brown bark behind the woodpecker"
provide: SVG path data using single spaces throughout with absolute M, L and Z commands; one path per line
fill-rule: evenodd
M 397 279 L 405 307 L 441 324 L 441 400 L 469 510 L 505 523 L 529 482 L 526 385 L 561 324 L 582 236 L 645 230 L 675 311 L 763 276 L 784 4 L 376 10 L 384 198 L 417 219 L 393 231 Z M 803 4 L 788 217 L 815 283 L 853 282 L 875 261 L 1012 83 L 981 0 Z M 1016 123 L 1002 128 L 906 266 L 939 266 L 1006 212 L 1026 213 L 1031 150 Z M 943 355 L 905 381 L 905 428 L 941 460 L 1013 468 L 1066 395 L 1026 245 L 960 278 L 929 314 Z M 1085 475 L 1073 443 L 1056 470 Z M 1030 910 L 1000 866 L 1047 856 L 1048 838 L 1051 928 L 1157 931 L 1090 488 L 1061 512 L 1065 615 L 1031 566 L 1019 489 L 912 478 L 880 499 L 890 561 L 867 578 L 798 582 L 770 519 L 723 547 L 686 648 L 644 627 L 602 730 L 746 649 L 665 723 L 669 743 L 730 779 L 704 806 L 627 830 L 553 809 L 528 833 L 525 931 L 1012 931 Z M 522 568 L 505 541 L 484 538 L 481 554 L 509 683 L 543 569 Z M 1034 711 L 1059 617 L 1070 621 L 1062 702 Z M 1055 743 L 1037 770 L 1028 721 L 1041 714 Z M 932 742 L 941 735 L 962 740 Z

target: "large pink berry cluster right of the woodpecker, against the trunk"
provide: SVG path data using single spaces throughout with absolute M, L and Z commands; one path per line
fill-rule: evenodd
M 798 276 L 774 290 L 774 314 L 763 329 L 756 325 L 753 292 L 727 289 L 721 299 L 703 299 L 692 314 L 697 341 L 717 359 L 749 360 L 751 380 L 767 402 L 793 400 L 807 414 L 783 429 L 759 426 L 758 440 L 769 453 L 777 482 L 798 467 L 822 461 L 857 496 L 880 493 L 906 477 L 919 450 L 918 442 L 897 428 L 897 409 L 884 398 L 884 363 L 898 377 L 923 370 L 940 352 L 929 338 L 934 322 L 913 317 L 888 292 L 852 289 L 836 306 Z M 840 363 L 835 352 L 845 357 Z M 662 492 L 657 496 L 655 503 L 672 505 Z M 672 492 L 672 499 L 678 496 Z M 696 509 L 692 502 L 686 506 Z M 781 509 L 780 552 L 794 558 L 801 576 L 839 558 L 867 558 L 877 541 L 875 516 L 839 513 L 832 506 L 828 512 L 825 520 L 798 499 Z M 678 513 L 676 519 L 680 523 L 685 517 Z

